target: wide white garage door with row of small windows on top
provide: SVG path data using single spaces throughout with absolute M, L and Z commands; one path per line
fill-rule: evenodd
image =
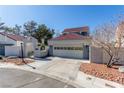
M 83 58 L 82 47 L 54 47 L 53 56 Z

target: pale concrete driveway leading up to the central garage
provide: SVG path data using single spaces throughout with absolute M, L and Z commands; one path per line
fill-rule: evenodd
M 52 62 L 37 68 L 45 75 L 59 80 L 75 80 L 82 60 L 52 57 Z

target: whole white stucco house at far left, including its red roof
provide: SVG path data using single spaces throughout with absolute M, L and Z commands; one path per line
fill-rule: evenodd
M 21 56 L 21 43 L 23 44 L 24 57 L 34 52 L 37 47 L 37 40 L 33 37 L 25 37 L 0 32 L 0 55 Z

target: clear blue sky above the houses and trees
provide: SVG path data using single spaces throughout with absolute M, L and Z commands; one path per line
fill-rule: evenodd
M 61 32 L 64 28 L 89 26 L 90 30 L 124 12 L 124 6 L 0 6 L 6 25 L 34 20 Z

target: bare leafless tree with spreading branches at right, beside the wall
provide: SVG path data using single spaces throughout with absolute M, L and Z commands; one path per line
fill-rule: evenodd
M 122 31 L 122 28 L 119 28 L 118 37 L 115 33 L 117 33 L 117 27 L 120 24 L 121 22 L 117 24 L 112 22 L 103 24 L 96 28 L 95 34 L 93 35 L 94 45 L 101 47 L 110 57 L 107 62 L 107 67 L 112 67 L 114 63 L 119 61 L 118 55 L 123 44 L 122 38 L 124 31 Z

